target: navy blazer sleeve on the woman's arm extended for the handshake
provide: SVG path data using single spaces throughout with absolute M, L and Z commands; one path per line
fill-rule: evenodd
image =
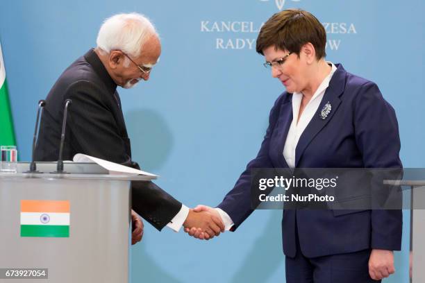
M 230 216 L 234 225 L 232 231 L 235 231 L 240 224 L 253 212 L 251 208 L 251 169 L 273 168 L 272 161 L 269 158 L 270 139 L 278 120 L 281 103 L 285 98 L 286 92 L 279 96 L 269 114 L 269 126 L 267 127 L 265 137 L 256 158 L 247 164 L 247 168 L 240 175 L 238 181 L 231 191 L 226 194 L 222 203 L 217 207 L 223 209 Z

